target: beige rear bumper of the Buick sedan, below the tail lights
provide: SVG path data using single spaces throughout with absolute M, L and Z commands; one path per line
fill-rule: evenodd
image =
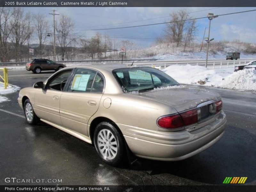
M 126 128 L 124 138 L 138 157 L 178 161 L 194 156 L 217 142 L 224 134 L 226 121 L 222 111 L 215 121 L 195 131 L 147 132 L 145 129 Z

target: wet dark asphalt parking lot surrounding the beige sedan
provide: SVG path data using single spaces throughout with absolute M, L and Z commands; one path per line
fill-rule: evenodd
M 52 74 L 9 70 L 9 83 L 23 88 Z M 220 93 L 227 115 L 226 132 L 217 143 L 186 160 L 138 159 L 123 168 L 104 164 L 92 145 L 50 125 L 27 124 L 18 92 L 5 95 L 9 101 L 0 103 L 0 185 L 20 184 L 6 183 L 6 177 L 62 180 L 34 183 L 39 185 L 221 185 L 225 177 L 248 177 L 245 184 L 256 185 L 256 93 L 204 88 Z

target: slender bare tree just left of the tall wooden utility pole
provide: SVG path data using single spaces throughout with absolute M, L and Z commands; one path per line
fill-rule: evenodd
M 35 18 L 35 30 L 37 35 L 37 40 L 39 44 L 39 54 L 42 57 L 44 42 L 46 39 L 46 33 L 48 29 L 48 21 L 46 20 L 46 15 L 42 13 L 36 13 Z

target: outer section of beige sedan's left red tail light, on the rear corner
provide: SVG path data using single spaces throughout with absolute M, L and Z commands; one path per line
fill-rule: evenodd
M 180 114 L 159 117 L 157 125 L 167 129 L 173 129 L 184 126 Z

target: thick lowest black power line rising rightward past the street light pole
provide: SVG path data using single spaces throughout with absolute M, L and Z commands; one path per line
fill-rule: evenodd
M 241 12 L 226 13 L 226 14 L 221 14 L 221 15 L 218 15 L 218 16 L 238 14 L 238 13 L 245 13 L 245 12 L 252 12 L 252 11 L 256 11 L 256 9 L 248 10 L 248 11 L 241 11 Z M 198 18 L 193 18 L 193 19 L 186 19 L 186 20 L 179 20 L 179 21 L 169 21 L 169 22 L 162 22 L 162 23 L 152 23 L 152 24 L 136 25 L 136 26 L 129 26 L 129 27 L 101 28 L 101 29 L 84 29 L 84 31 L 98 31 L 98 30 L 109 30 L 109 29 L 123 29 L 123 28 L 145 27 L 145 26 L 151 26 L 151 25 L 161 25 L 161 24 L 166 24 L 166 23 L 176 23 L 176 22 L 181 22 L 181 21 L 199 20 L 199 19 L 205 19 L 205 18 L 208 18 L 208 17 L 198 17 Z

